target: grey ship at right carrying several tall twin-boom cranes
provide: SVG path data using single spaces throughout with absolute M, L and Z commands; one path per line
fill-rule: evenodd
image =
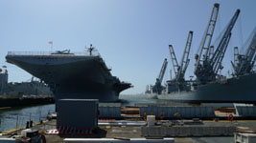
M 231 78 L 221 75 L 223 66 L 221 64 L 224 53 L 228 47 L 232 35 L 232 29 L 239 16 L 240 10 L 236 10 L 234 16 L 221 33 L 218 45 L 211 45 L 215 25 L 217 22 L 220 5 L 215 4 L 211 12 L 206 31 L 200 43 L 198 54 L 196 54 L 195 75 L 196 80 L 185 80 L 185 72 L 189 65 L 189 52 L 191 49 L 193 31 L 189 32 L 181 63 L 178 64 L 172 45 L 169 46 L 171 60 L 173 63 L 175 78 L 168 80 L 166 86 L 156 79 L 156 84 L 151 86 L 158 99 L 167 99 L 177 102 L 188 103 L 256 103 L 256 72 L 253 71 L 256 60 L 256 30 L 252 31 L 244 47 L 244 53 L 239 53 L 234 48 L 233 73 Z M 163 67 L 165 65 L 163 64 Z M 164 72 L 160 72 L 163 74 Z M 160 84 L 159 84 L 160 83 Z M 153 90 L 158 89 L 158 90 Z

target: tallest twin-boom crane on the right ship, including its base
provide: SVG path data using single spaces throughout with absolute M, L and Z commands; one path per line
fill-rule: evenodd
M 219 70 L 223 69 L 221 62 L 231 38 L 231 31 L 240 13 L 240 10 L 236 10 L 234 16 L 231 18 L 226 29 L 221 35 L 219 45 L 217 46 L 216 50 L 211 53 L 210 51 L 213 51 L 214 48 L 210 45 L 218 17 L 219 6 L 219 4 L 214 5 L 210 21 L 199 47 L 199 54 L 196 54 L 195 56 L 195 74 L 197 75 L 197 80 L 200 84 L 206 84 L 208 82 L 215 81 Z

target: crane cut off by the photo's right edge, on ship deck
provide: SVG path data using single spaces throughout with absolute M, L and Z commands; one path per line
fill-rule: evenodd
M 231 61 L 236 76 L 251 73 L 256 60 L 256 27 L 248 37 L 246 51 L 239 54 L 238 47 L 234 48 L 234 63 Z M 247 43 L 246 43 L 247 44 Z

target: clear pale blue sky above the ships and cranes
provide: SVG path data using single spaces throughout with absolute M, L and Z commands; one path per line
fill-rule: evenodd
M 228 75 L 233 47 L 242 49 L 256 26 L 255 0 L 0 0 L 0 66 L 8 67 L 10 82 L 27 81 L 32 75 L 6 62 L 8 51 L 51 51 L 49 41 L 52 51 L 84 51 L 92 44 L 111 73 L 134 86 L 123 94 L 142 93 L 154 84 L 164 58 L 164 81 L 171 78 L 168 45 L 180 62 L 189 31 L 194 37 L 186 77 L 194 74 L 194 55 L 214 3 L 221 6 L 213 43 L 241 10 L 223 59 L 221 73 Z

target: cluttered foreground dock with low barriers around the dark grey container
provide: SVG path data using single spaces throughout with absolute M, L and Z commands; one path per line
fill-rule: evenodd
M 166 141 L 175 143 L 197 142 L 198 140 L 207 140 L 205 142 L 211 143 L 218 139 L 231 142 L 234 140 L 235 133 L 256 133 L 256 119 L 255 114 L 252 113 L 255 111 L 255 107 L 216 109 L 213 107 L 193 108 L 151 105 L 145 108 L 145 106 L 121 107 L 119 104 L 105 104 L 104 106 L 99 105 L 99 107 L 96 128 L 86 130 L 71 127 L 59 128 L 58 119 L 55 118 L 56 113 L 53 113 L 53 115 L 50 115 L 53 118 L 35 123 L 30 129 L 44 133 L 46 140 L 51 143 L 86 142 L 88 138 L 100 139 L 94 140 L 96 142 L 101 142 L 103 139 L 113 142 L 126 142 L 134 138 L 163 141 L 164 138 L 168 138 L 169 140 Z M 145 109 L 148 111 L 145 111 Z M 243 109 L 243 113 L 241 113 L 241 109 Z M 172 110 L 175 112 L 172 112 Z M 231 120 L 227 116 L 232 112 L 234 118 Z M 77 113 L 82 116 L 81 111 Z M 62 115 L 65 116 L 65 114 Z M 155 117 L 155 120 L 150 125 L 151 121 L 147 118 L 151 115 Z M 95 120 L 95 118 L 91 119 Z M 76 117 L 72 117 L 70 120 L 75 121 Z M 19 134 L 24 129 L 25 127 L 13 129 L 2 133 L 0 137 L 20 137 Z M 173 138 L 173 140 L 170 140 L 170 138 Z M 146 141 L 150 142 L 150 140 Z

